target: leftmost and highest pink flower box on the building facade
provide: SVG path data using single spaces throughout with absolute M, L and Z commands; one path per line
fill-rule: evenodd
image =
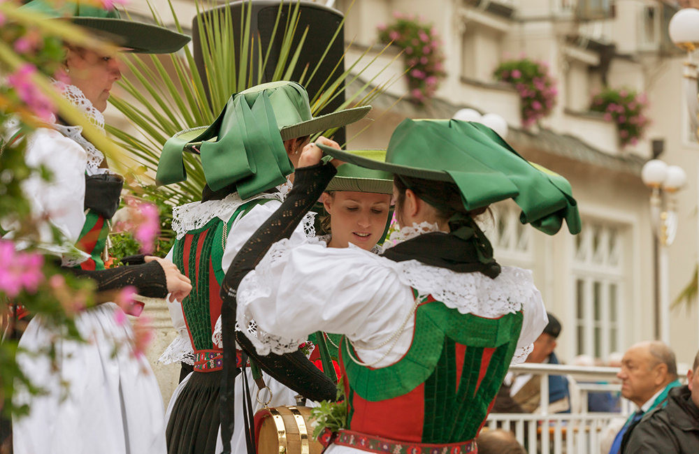
M 422 23 L 414 15 L 396 11 L 394 17 L 394 24 L 377 26 L 379 40 L 403 49 L 410 96 L 415 103 L 424 105 L 434 96 L 446 75 L 442 41 L 435 27 Z

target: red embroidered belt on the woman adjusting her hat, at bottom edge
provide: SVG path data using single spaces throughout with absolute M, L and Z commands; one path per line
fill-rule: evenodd
M 451 444 L 412 443 L 376 437 L 352 430 L 340 430 L 333 443 L 381 454 L 475 454 L 478 452 L 475 440 Z

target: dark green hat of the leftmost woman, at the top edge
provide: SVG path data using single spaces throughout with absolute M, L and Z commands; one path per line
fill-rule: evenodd
M 124 52 L 169 54 L 182 49 L 192 39 L 154 24 L 124 20 L 116 9 L 99 8 L 79 0 L 32 0 L 22 8 L 71 20 L 73 24 L 123 47 Z

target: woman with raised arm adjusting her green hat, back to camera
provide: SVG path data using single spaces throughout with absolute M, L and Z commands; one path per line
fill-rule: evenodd
M 310 331 L 345 335 L 349 413 L 333 453 L 473 453 L 508 366 L 547 323 L 531 272 L 500 267 L 475 217 L 513 198 L 523 222 L 554 234 L 566 219 L 577 233 L 570 184 L 486 126 L 458 120 L 406 119 L 385 162 L 336 148 L 321 139 L 304 149 L 284 204 L 229 268 L 224 307 L 237 306 L 241 326 L 260 317 L 257 336 L 243 330 L 238 342 L 282 354 Z M 294 247 L 289 226 L 335 175 L 322 152 L 394 173 L 403 242 L 382 256 Z

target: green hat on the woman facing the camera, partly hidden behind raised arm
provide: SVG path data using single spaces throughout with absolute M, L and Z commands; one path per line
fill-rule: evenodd
M 385 161 L 384 150 L 354 150 L 348 152 L 375 161 Z M 376 170 L 345 163 L 338 167 L 338 173 L 329 182 L 326 191 L 393 193 L 393 175 L 385 170 Z

